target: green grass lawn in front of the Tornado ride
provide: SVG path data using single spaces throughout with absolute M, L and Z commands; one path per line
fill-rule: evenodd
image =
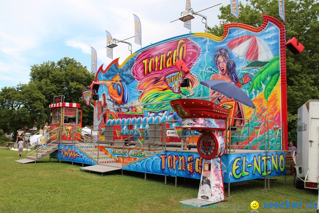
M 259 202 L 263 212 L 264 202 L 301 201 L 317 202 L 318 191 L 296 189 L 293 177 L 276 177 L 271 189 L 264 189 L 264 181 L 251 180 L 250 185 L 231 187 L 231 197 L 217 208 L 181 208 L 181 199 L 196 198 L 199 180 L 124 171 L 113 171 L 101 177 L 98 173 L 80 171 L 82 164 L 58 163 L 45 157 L 36 164 L 14 162 L 21 159 L 17 151 L 0 148 L 0 212 L 209 212 L 221 205 L 240 204 L 240 209 L 250 212 L 250 203 Z M 26 156 L 23 152 L 22 158 Z M 227 188 L 226 195 L 227 195 Z M 238 209 L 238 208 L 236 208 Z M 295 209 L 296 210 L 296 209 Z M 271 211 L 271 209 L 270 209 Z M 235 211 L 236 212 L 236 211 Z

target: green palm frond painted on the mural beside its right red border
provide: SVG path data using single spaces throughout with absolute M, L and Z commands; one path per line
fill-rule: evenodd
M 279 56 L 275 56 L 270 59 L 270 61 L 265 64 L 263 68 L 261 68 L 254 76 L 252 80 L 251 86 L 248 90 L 250 93 L 253 89 L 260 90 L 263 86 L 263 83 L 269 77 L 269 81 L 266 84 L 264 96 L 265 99 L 268 100 L 268 96 L 276 86 L 276 83 L 280 77 L 280 58 Z

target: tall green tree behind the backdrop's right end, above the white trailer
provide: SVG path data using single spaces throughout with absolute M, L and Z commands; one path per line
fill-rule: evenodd
M 286 0 L 286 39 L 299 34 L 305 46 L 303 52 L 294 56 L 286 51 L 288 140 L 297 141 L 297 110 L 309 99 L 319 99 L 319 3 L 317 0 Z M 239 19 L 230 13 L 230 5 L 220 7 L 220 24 L 240 22 L 253 27 L 263 23 L 262 15 L 270 15 L 282 21 L 277 0 L 247 0 L 239 4 Z M 222 26 L 208 27 L 211 34 L 221 36 Z

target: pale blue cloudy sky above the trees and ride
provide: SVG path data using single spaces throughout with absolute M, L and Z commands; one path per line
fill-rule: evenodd
M 222 3 L 222 4 L 220 4 Z M 219 7 L 229 1 L 192 0 L 191 8 L 207 16 L 210 27 L 219 25 Z M 30 66 L 63 57 L 74 58 L 91 70 L 91 48 L 97 52 L 97 67 L 104 69 L 111 59 L 106 56 L 107 30 L 113 38 L 134 36 L 134 17 L 141 22 L 142 47 L 177 35 L 189 33 L 183 22 L 176 20 L 185 10 L 186 0 L 49 0 L 1 1 L 0 3 L 0 88 L 28 83 Z M 204 32 L 202 17 L 191 20 L 191 32 Z M 134 38 L 132 51 L 141 48 Z M 113 59 L 120 64 L 130 55 L 129 46 L 119 43 Z

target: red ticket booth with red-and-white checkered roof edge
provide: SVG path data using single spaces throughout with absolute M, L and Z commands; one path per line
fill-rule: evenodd
M 64 102 L 64 95 L 54 97 L 50 108 L 50 140 L 73 141 L 80 140 L 80 133 L 74 130 L 82 128 L 82 109 L 79 103 Z M 57 128 L 60 127 L 60 128 Z M 60 134 L 57 134 L 60 130 Z M 76 131 L 78 132 L 78 131 Z

